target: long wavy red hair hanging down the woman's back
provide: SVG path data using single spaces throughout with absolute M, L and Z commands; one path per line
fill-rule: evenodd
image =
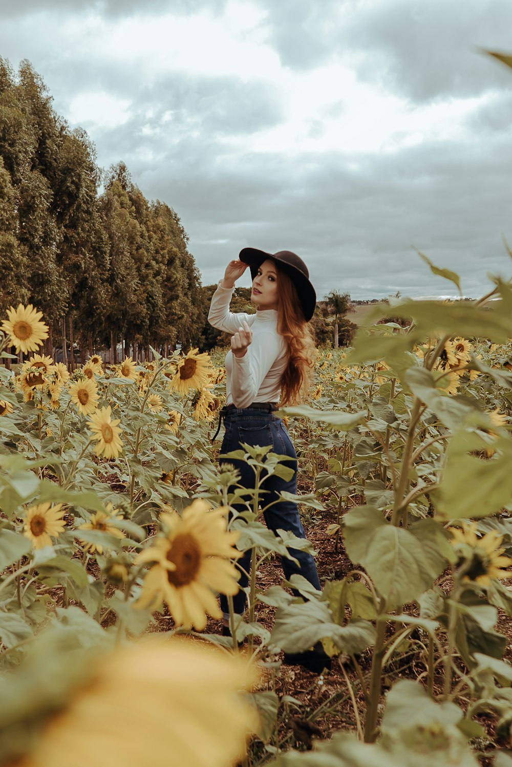
M 276 263 L 278 276 L 277 332 L 288 347 L 288 364 L 281 376 L 281 405 L 304 400 L 317 358 L 310 324 L 304 319 L 297 289 L 286 272 Z

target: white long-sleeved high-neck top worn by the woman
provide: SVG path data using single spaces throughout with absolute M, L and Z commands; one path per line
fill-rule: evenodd
M 277 333 L 277 311 L 231 314 L 229 304 L 234 290 L 222 288 L 219 283 L 208 313 L 208 322 L 220 331 L 235 334 L 244 321 L 252 331 L 244 357 L 235 357 L 231 351 L 226 354 L 226 403 L 247 407 L 253 402 L 277 402 L 287 366 L 287 344 Z

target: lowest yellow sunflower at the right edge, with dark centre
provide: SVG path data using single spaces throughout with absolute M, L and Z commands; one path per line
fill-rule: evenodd
M 477 525 L 471 522 L 469 525 L 462 523 L 462 529 L 449 528 L 452 545 L 458 551 L 460 560 L 458 566 L 464 566 L 464 581 L 474 581 L 482 586 L 490 586 L 491 580 L 498 578 L 510 578 L 512 559 L 504 557 L 504 548 L 501 547 L 503 535 L 497 530 L 491 530 L 481 538 L 477 535 Z

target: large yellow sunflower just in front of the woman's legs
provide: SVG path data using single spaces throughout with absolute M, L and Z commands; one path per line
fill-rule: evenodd
M 181 517 L 160 515 L 166 537 L 156 538 L 136 560 L 155 563 L 144 578 L 139 607 L 165 601 L 177 626 L 199 631 L 206 625 L 205 613 L 222 617 L 213 592 L 237 593 L 238 573 L 228 559 L 241 557 L 232 546 L 239 534 L 227 531 L 227 515 L 224 508 L 208 511 L 200 499 Z

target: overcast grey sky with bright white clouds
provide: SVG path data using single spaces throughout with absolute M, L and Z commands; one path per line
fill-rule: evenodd
M 319 298 L 464 295 L 510 275 L 510 0 L 0 0 L 107 168 L 172 206 L 203 284 L 245 245 Z M 249 284 L 243 278 L 241 284 Z

